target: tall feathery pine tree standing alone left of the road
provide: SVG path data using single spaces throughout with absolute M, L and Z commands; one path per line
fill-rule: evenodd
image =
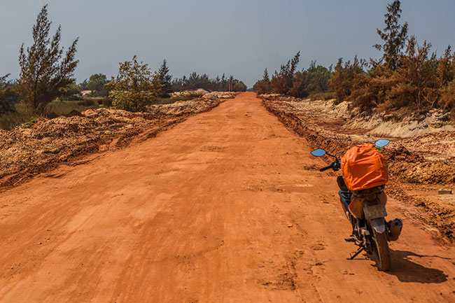
M 74 59 L 78 38 L 66 50 L 62 59 L 64 48 L 59 47 L 62 29 L 59 26 L 51 40 L 51 23 L 46 4 L 36 17 L 32 31 L 33 45 L 27 48 L 27 53 L 24 44 L 20 48 L 18 93 L 22 104 L 38 114 L 45 113 L 45 106 L 62 95 L 62 87 L 73 83 L 73 72 L 79 62 Z

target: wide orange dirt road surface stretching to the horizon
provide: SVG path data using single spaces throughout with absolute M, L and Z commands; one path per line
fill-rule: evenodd
M 455 302 L 410 218 L 391 272 L 346 260 L 333 176 L 254 96 L 1 193 L 0 302 Z

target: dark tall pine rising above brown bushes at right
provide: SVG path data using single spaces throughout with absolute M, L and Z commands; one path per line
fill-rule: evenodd
M 400 55 L 402 55 L 402 50 L 405 48 L 407 41 L 407 22 L 398 24 L 402 12 L 400 5 L 399 0 L 387 5 L 387 13 L 384 15 L 386 17 L 384 20 L 386 27 L 384 27 L 384 31 L 377 29 L 377 34 L 384 41 L 384 45 L 373 45 L 377 50 L 384 52 L 382 60 L 392 71 L 395 71 L 400 66 Z

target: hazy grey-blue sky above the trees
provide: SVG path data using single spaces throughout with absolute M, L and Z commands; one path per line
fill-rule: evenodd
M 233 74 L 251 87 L 265 67 L 272 73 L 300 50 L 299 68 L 311 60 L 329 66 L 339 57 L 379 57 L 376 28 L 384 27 L 390 0 L 0 0 L 0 76 L 18 76 L 20 45 L 49 3 L 52 34 L 62 45 L 79 37 L 78 82 L 92 73 L 117 74 L 133 55 L 172 75 L 192 71 Z M 403 0 L 402 20 L 419 42 L 441 54 L 455 44 L 455 1 Z M 455 45 L 454 45 L 455 46 Z

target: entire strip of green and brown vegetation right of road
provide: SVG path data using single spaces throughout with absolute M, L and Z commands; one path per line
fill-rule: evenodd
M 400 1 L 388 4 L 384 29 L 377 29 L 382 52 L 379 59 L 338 59 L 335 68 L 316 66 L 297 71 L 300 52 L 269 78 L 267 69 L 255 86 L 260 94 L 352 101 L 363 111 L 405 113 L 439 108 L 455 121 L 455 53 L 451 46 L 438 56 L 431 43 L 408 36 L 409 25 L 400 22 Z

